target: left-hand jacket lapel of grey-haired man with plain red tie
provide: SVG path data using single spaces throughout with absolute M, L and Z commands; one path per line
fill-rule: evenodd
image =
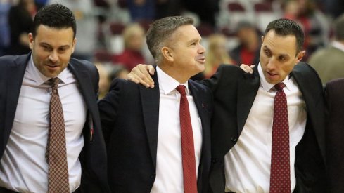
M 158 146 L 158 128 L 159 128 L 159 84 L 158 76 L 154 74 L 154 88 L 140 86 L 142 114 L 144 115 L 144 125 L 146 128 L 149 149 L 151 151 L 154 168 L 156 167 L 156 154 Z

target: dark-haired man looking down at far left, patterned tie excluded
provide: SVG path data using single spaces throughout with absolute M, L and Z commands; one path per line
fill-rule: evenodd
M 49 80 L 55 77 L 67 149 L 64 192 L 110 191 L 96 104 L 98 72 L 90 62 L 70 58 L 75 32 L 72 11 L 46 6 L 29 34 L 32 53 L 0 58 L 0 192 L 48 192 Z

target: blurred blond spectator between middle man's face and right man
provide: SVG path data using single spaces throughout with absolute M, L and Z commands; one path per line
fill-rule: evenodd
M 205 53 L 205 78 L 210 78 L 221 64 L 233 64 L 226 48 L 227 39 L 223 34 L 211 34 L 208 37 L 208 49 Z

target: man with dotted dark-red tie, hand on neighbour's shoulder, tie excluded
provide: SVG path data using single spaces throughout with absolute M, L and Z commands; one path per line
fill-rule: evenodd
M 303 41 L 297 23 L 274 20 L 262 36 L 260 63 L 253 74 L 222 65 L 203 81 L 212 88 L 215 100 L 212 192 L 270 191 L 274 85 L 280 82 L 286 85 L 288 102 L 291 178 L 286 192 L 326 192 L 324 93 L 317 72 L 300 62 L 305 55 Z M 140 66 L 130 76 L 142 82 L 146 68 Z

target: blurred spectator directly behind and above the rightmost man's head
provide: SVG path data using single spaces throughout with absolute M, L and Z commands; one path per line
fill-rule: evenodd
M 307 60 L 318 48 L 329 42 L 329 20 L 322 13 L 314 0 L 287 0 L 284 6 L 284 18 L 295 20 L 302 25 L 305 32 Z

